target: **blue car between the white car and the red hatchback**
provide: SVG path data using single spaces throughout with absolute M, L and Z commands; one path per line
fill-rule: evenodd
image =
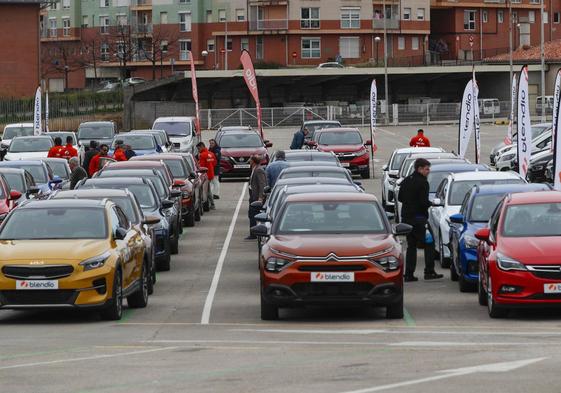
M 507 194 L 546 190 L 551 190 L 547 184 L 503 184 L 475 186 L 466 194 L 460 213 L 450 217 L 450 279 L 458 281 L 461 292 L 477 289 L 479 240 L 474 234 L 487 226 L 499 202 Z

